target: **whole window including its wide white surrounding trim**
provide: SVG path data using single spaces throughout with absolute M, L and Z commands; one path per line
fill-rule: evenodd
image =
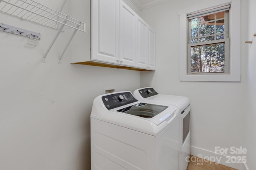
M 179 11 L 181 81 L 240 81 L 240 0 L 218 2 Z

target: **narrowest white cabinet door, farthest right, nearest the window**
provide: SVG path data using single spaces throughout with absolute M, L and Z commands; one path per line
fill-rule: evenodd
M 156 32 L 148 27 L 148 68 L 156 69 Z

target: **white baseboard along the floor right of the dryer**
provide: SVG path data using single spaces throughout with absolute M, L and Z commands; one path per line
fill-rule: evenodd
M 231 168 L 235 168 L 237 170 L 249 170 L 246 163 L 231 163 L 231 161 L 228 161 L 228 157 L 230 157 L 230 156 L 218 154 L 218 153 L 212 152 L 210 150 L 205 150 L 205 149 L 201 149 L 198 147 L 190 146 L 190 154 L 193 156 L 202 157 L 205 160 L 210 160 L 212 162 L 220 163 L 222 165 L 229 166 Z M 226 157 L 226 156 L 228 156 L 228 157 Z M 241 162 L 241 161 L 236 160 L 233 162 Z

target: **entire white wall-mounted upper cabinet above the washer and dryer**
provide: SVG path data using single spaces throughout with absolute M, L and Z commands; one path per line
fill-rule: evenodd
M 123 0 L 75 1 L 70 12 L 86 21 L 86 32 L 70 44 L 71 63 L 155 70 L 155 32 Z

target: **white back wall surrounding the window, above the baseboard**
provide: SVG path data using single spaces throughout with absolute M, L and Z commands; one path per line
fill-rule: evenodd
M 214 152 L 214 147 L 243 146 L 244 119 L 247 113 L 244 105 L 248 101 L 247 49 L 244 44 L 247 25 L 244 25 L 243 21 L 246 19 L 247 6 L 243 0 L 241 82 L 181 82 L 179 80 L 180 18 L 178 11 L 210 1 L 172 0 L 142 11 L 142 17 L 156 29 L 157 65 L 155 72 L 141 73 L 141 86 L 153 86 L 158 93 L 190 98 L 191 152 L 196 156 L 202 153 L 209 154 L 203 154 L 203 156 L 210 156 L 210 152 Z M 222 157 L 222 159 L 226 158 Z

